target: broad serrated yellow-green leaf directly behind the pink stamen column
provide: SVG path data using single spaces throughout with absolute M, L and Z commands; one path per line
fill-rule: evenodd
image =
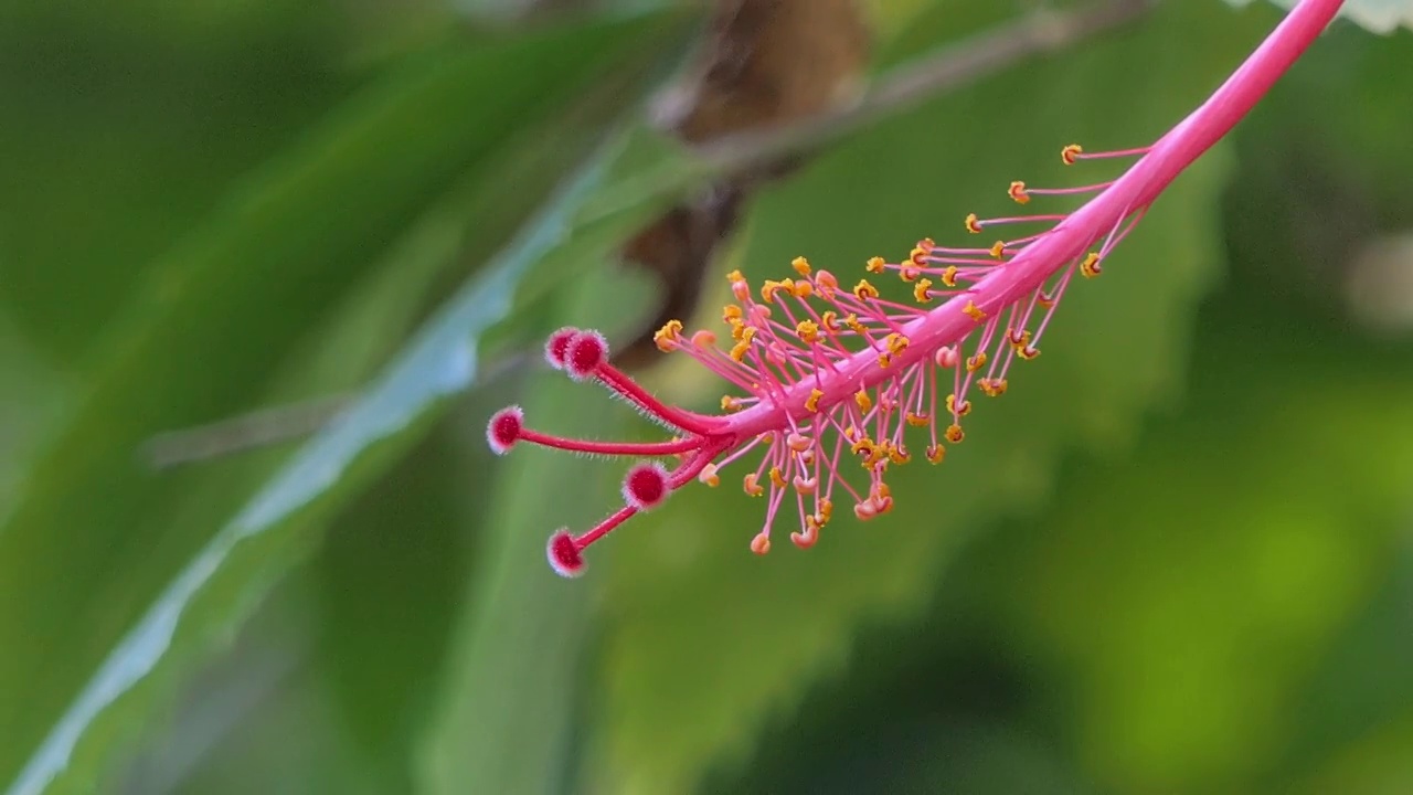
M 1063 173 L 1061 146 L 1154 140 L 1263 34 L 1219 7 L 1164 4 L 1142 30 L 868 132 L 762 198 L 747 276 L 783 273 L 801 253 L 851 273 L 924 235 L 961 238 L 966 211 L 1005 211 L 1012 178 L 1087 181 Z M 1003 400 L 983 399 L 942 470 L 899 471 L 893 515 L 838 521 L 808 553 L 780 545 L 757 559 L 746 545 L 759 501 L 694 487 L 620 529 L 601 550 L 616 560 L 592 781 L 610 792 L 684 791 L 706 767 L 740 760 L 763 723 L 845 663 L 856 625 L 906 621 L 971 528 L 1043 497 L 1061 450 L 1122 446 L 1181 371 L 1194 300 L 1219 262 L 1222 166 L 1215 153 L 1184 175 L 1113 267 L 1065 297 L 1046 355 L 1015 373 Z M 666 371 L 661 386 L 704 406 L 702 392 L 721 389 L 687 366 Z

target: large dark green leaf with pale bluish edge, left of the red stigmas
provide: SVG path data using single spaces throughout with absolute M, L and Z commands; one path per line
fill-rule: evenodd
M 680 18 L 578 27 L 411 64 L 273 163 L 268 177 L 154 269 L 143 300 L 112 330 L 92 392 L 0 529 L 0 645 L 25 649 L 0 662 L 0 690 L 11 702 L 0 710 L 0 777 L 14 781 L 13 792 L 92 785 L 113 743 L 150 719 L 167 680 L 151 675 L 160 669 L 170 679 L 218 639 L 317 538 L 318 519 L 425 430 L 441 396 L 469 383 L 482 334 L 510 311 L 528 269 L 568 235 L 601 174 L 547 209 L 345 420 L 243 506 L 281 451 L 158 477 L 134 460 L 138 444 L 261 396 L 357 383 L 369 352 L 396 340 L 424 300 L 398 269 L 372 267 L 389 242 L 475 168 L 499 174 L 482 158 L 504 154 L 527 123 L 622 109 L 637 96 L 627 86 L 644 61 L 680 30 L 667 23 Z M 602 85 L 610 100 L 591 91 L 582 102 L 592 113 L 567 113 L 586 85 Z M 596 129 L 567 133 L 577 132 L 582 146 L 593 140 L 585 130 Z M 441 265 L 421 270 L 438 272 Z M 400 321 L 366 324 L 382 317 L 390 290 L 403 308 L 387 317 Z M 369 347 L 370 328 L 387 337 L 374 334 Z M 338 366 L 325 359 L 318 378 L 301 379 L 307 365 L 342 359 L 348 345 L 365 355 Z M 377 444 L 384 439 L 391 441 Z

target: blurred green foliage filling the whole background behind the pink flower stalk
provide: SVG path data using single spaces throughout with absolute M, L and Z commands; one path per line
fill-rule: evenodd
M 642 124 L 699 17 L 619 6 L 0 8 L 7 792 L 1413 787 L 1413 330 L 1348 289 L 1413 226 L 1413 35 L 1331 30 L 887 519 L 757 559 L 759 502 L 688 488 L 571 583 L 544 539 L 620 472 L 482 430 L 520 402 L 650 433 L 537 365 L 651 313 L 612 252 L 704 175 Z M 873 4 L 879 68 L 1023 7 Z M 959 236 L 1071 177 L 1064 143 L 1160 134 L 1277 20 L 1167 1 L 880 117 L 716 265 Z M 1381 267 L 1397 303 L 1413 260 Z M 144 457 L 328 396 L 307 440 Z

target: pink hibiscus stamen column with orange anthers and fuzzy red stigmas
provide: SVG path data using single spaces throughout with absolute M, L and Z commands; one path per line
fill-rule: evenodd
M 1012 366 L 1040 355 L 1039 342 L 1075 273 L 1095 277 L 1113 248 L 1149 205 L 1204 151 L 1222 139 L 1320 35 L 1342 0 L 1303 0 L 1197 110 L 1142 149 L 1087 153 L 1067 146 L 1061 158 L 1136 158 L 1113 181 L 1063 190 L 1010 185 L 1017 204 L 1057 194 L 1092 195 L 1067 215 L 966 218 L 983 233 L 1016 224 L 1051 224 L 1040 233 L 1002 236 L 983 248 L 942 248 L 921 240 L 899 263 L 875 257 L 865 270 L 896 274 L 911 286 L 911 303 L 886 300 L 868 277 L 845 286 L 804 257 L 796 274 L 764 282 L 757 294 L 731 273 L 736 303 L 723 321 L 731 345 L 718 348 L 709 331 L 684 334 L 680 321 L 656 337 L 663 351 L 681 351 L 739 390 L 722 398 L 722 414 L 667 406 L 609 362 L 609 347 L 593 331 L 564 328 L 545 358 L 578 381 L 595 381 L 670 429 L 658 443 L 561 439 L 530 430 L 523 412 L 497 412 L 486 436 L 496 453 L 526 441 L 610 457 L 642 458 L 623 481 L 623 506 L 595 528 L 550 538 L 554 570 L 584 570 L 584 550 L 633 515 L 649 511 L 692 480 L 715 487 L 728 467 L 757 455 L 740 475 L 745 491 L 764 497 L 766 519 L 752 539 L 770 550 L 770 530 L 784 505 L 798 523 L 790 539 L 810 547 L 834 515 L 836 498 L 855 516 L 872 519 L 893 508 L 885 482 L 889 467 L 913 460 L 906 430 L 914 427 L 921 457 L 942 461 L 947 444 L 962 441 L 962 417 L 974 390 L 999 396 Z M 673 460 L 671 468 L 658 460 Z M 859 470 L 862 468 L 862 474 Z M 851 482 L 853 472 L 861 485 Z

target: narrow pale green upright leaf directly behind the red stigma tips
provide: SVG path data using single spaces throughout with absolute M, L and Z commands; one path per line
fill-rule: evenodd
M 644 306 L 630 300 L 633 283 L 603 269 L 591 273 L 554 308 L 610 337 L 636 331 L 643 318 L 625 311 Z M 595 386 L 574 383 L 564 373 L 540 372 L 521 386 L 526 414 L 543 417 L 555 433 L 620 434 L 633 416 L 613 400 L 585 400 Z M 444 707 L 420 760 L 420 781 L 428 792 L 571 789 L 571 729 L 585 679 L 584 641 L 593 601 L 584 587 L 588 583 L 554 574 L 544 547 L 564 522 L 588 521 L 616 491 L 620 472 L 523 447 L 496 467 L 482 508 L 486 543 L 448 663 Z

